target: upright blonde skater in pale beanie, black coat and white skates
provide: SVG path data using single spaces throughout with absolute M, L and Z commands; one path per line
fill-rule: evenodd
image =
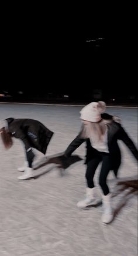
M 87 155 L 85 164 L 87 169 L 85 178 L 87 181 L 86 197 L 77 203 L 79 208 L 85 208 L 96 204 L 94 197 L 94 175 L 100 162 L 102 162 L 99 174 L 99 185 L 102 190 L 103 214 L 102 222 L 110 223 L 113 220 L 111 206 L 111 193 L 106 183 L 109 171 L 113 170 L 117 177 L 121 163 L 120 149 L 118 140 L 122 140 L 133 156 L 138 160 L 137 149 L 120 124 L 120 118 L 105 112 L 105 102 L 92 102 L 83 107 L 80 114 L 82 121 L 81 132 L 70 143 L 64 152 L 63 160 L 67 159 L 74 150 L 83 142 L 87 143 Z

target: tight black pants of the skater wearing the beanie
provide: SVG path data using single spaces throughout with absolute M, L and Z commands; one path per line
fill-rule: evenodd
M 109 193 L 109 188 L 108 188 L 108 185 L 106 184 L 106 178 L 111 169 L 109 153 L 97 151 L 97 154 L 95 155 L 95 157 L 87 163 L 87 170 L 86 170 L 85 177 L 87 179 L 88 187 L 93 188 L 94 174 L 95 174 L 96 168 L 98 167 L 98 164 L 101 161 L 102 161 L 102 167 L 101 167 L 101 172 L 99 174 L 99 185 L 101 186 L 102 191 L 106 196 Z

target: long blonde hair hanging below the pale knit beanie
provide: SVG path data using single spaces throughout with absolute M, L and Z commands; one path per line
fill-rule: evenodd
M 83 139 L 92 138 L 93 142 L 103 142 L 104 134 L 106 131 L 106 124 L 102 121 L 98 123 L 92 123 L 88 121 L 82 121 L 83 128 L 81 137 Z

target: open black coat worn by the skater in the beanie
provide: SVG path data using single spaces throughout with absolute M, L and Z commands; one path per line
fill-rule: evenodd
M 109 154 L 111 156 L 111 170 L 114 171 L 115 176 L 117 176 L 118 169 L 121 163 L 121 154 L 120 149 L 118 146 L 118 140 L 122 140 L 127 147 L 129 147 L 130 151 L 132 152 L 133 156 L 138 160 L 138 152 L 134 143 L 129 138 L 123 127 L 120 123 L 113 121 L 112 116 L 105 114 L 106 119 L 111 119 L 111 123 L 108 124 L 108 149 Z M 85 164 L 88 163 L 91 159 L 97 154 L 97 150 L 91 146 L 91 142 L 89 139 L 82 139 L 81 132 L 78 134 L 77 137 L 70 143 L 70 145 L 65 150 L 65 156 L 70 156 L 75 149 L 77 149 L 83 142 L 87 143 L 87 154 L 86 154 L 86 161 Z

